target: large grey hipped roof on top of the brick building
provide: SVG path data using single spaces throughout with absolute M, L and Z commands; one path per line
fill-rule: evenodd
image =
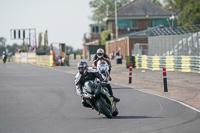
M 119 8 L 117 10 L 118 17 L 137 17 L 137 16 L 171 16 L 174 14 L 171 11 L 163 9 L 146 0 L 134 0 L 129 4 Z M 108 17 L 114 17 L 115 12 Z

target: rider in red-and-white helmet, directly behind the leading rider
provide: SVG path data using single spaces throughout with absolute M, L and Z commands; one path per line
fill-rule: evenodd
M 97 50 L 97 53 L 96 55 L 94 56 L 93 58 L 93 63 L 92 63 L 92 66 L 93 68 L 96 68 L 97 67 L 97 62 L 100 60 L 100 59 L 103 59 L 105 60 L 107 63 L 108 63 L 108 66 L 109 66 L 109 74 L 110 74 L 110 71 L 111 71 L 111 62 L 110 62 L 110 58 L 104 53 L 104 50 L 102 48 L 99 48 Z M 109 80 L 111 80 L 111 77 L 109 76 Z

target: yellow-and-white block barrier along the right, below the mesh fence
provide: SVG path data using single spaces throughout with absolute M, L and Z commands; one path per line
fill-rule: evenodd
M 200 73 L 199 56 L 135 56 L 136 68 Z

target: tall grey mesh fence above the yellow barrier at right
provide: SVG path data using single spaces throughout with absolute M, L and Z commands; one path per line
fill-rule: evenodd
M 149 56 L 200 56 L 200 32 L 148 38 Z

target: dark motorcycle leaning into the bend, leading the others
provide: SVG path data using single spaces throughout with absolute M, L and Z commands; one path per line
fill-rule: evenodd
M 95 109 L 99 115 L 104 114 L 107 118 L 112 118 L 118 115 L 116 102 L 108 93 L 106 87 L 102 87 L 103 83 L 98 81 L 87 81 L 83 87 L 83 98 L 92 109 Z

